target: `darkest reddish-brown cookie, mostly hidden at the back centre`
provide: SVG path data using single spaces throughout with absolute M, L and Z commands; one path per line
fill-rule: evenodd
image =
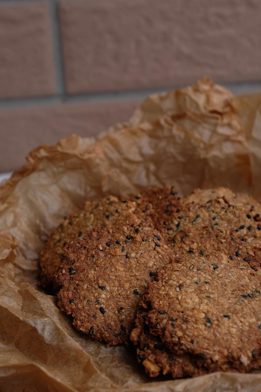
M 155 229 L 160 231 L 167 227 L 172 214 L 182 204 L 173 187 L 148 187 L 137 195 L 125 195 L 124 198 L 135 201 L 139 209 L 151 218 Z

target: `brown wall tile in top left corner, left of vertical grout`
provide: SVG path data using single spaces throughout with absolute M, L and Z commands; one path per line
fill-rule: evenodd
M 0 4 L 0 98 L 55 93 L 47 2 Z

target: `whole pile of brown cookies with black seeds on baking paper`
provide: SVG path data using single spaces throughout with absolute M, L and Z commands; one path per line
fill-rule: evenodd
M 261 205 L 225 188 L 87 201 L 40 254 L 41 284 L 74 326 L 131 339 L 151 377 L 261 365 Z

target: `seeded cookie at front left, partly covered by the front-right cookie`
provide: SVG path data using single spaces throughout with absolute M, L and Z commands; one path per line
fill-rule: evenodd
M 58 306 L 94 339 L 108 346 L 125 343 L 148 283 L 173 260 L 160 233 L 127 225 L 99 228 L 65 252 L 56 274 L 62 287 Z

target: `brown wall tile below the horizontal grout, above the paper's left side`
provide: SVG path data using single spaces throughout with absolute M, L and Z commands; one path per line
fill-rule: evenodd
M 29 151 L 52 145 L 73 133 L 96 136 L 126 121 L 139 100 L 65 103 L 55 106 L 0 110 L 0 172 L 18 169 Z

